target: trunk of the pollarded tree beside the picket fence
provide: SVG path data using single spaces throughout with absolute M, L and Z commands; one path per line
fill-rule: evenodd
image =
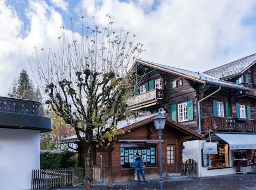
M 85 163 L 84 163 L 84 190 L 93 189 L 93 145 L 87 143 L 84 145 Z

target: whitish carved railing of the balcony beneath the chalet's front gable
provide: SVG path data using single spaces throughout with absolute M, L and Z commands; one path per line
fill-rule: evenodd
M 150 100 L 156 100 L 156 99 L 164 99 L 165 97 L 165 91 L 154 89 L 142 94 L 139 94 L 137 96 L 131 97 L 131 99 L 128 102 L 129 106 L 134 106 L 138 104 L 142 104 L 145 102 L 149 102 Z

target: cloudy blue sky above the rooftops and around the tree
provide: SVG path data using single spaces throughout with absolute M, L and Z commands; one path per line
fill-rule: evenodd
M 256 1 L 0 0 L 0 96 L 36 48 L 57 48 L 62 29 L 79 33 L 81 17 L 136 34 L 143 60 L 203 72 L 256 53 Z

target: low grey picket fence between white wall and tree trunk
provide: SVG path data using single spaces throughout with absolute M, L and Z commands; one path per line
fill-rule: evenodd
M 83 182 L 83 168 L 33 169 L 31 189 L 74 186 Z

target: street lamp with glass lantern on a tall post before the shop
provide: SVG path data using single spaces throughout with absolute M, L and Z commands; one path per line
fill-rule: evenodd
M 159 149 L 160 149 L 160 182 L 163 181 L 163 173 L 162 173 L 162 130 L 164 129 L 164 125 L 166 124 L 166 117 L 162 115 L 162 113 L 158 113 L 154 119 L 154 125 L 159 135 Z

